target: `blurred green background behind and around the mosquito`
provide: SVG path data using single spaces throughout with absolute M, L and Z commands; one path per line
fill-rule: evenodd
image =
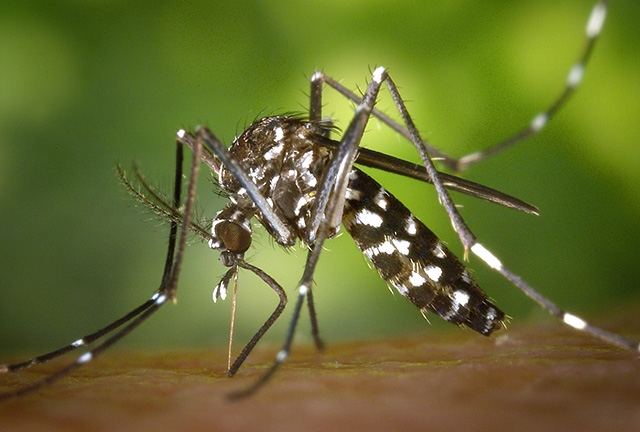
M 264 113 L 302 111 L 321 69 L 364 88 L 388 67 L 431 143 L 455 155 L 526 125 L 561 90 L 592 1 L 4 1 L 0 6 L 0 350 L 40 352 L 131 310 L 157 288 L 167 227 L 119 185 L 136 159 L 169 190 L 179 128 L 229 143 Z M 596 321 L 640 305 L 640 4 L 613 2 L 583 86 L 544 132 L 465 173 L 538 205 L 527 216 L 454 196 L 483 243 L 560 305 Z M 395 115 L 384 97 L 379 105 Z M 353 107 L 327 94 L 345 127 Z M 364 145 L 416 160 L 372 121 Z M 375 173 L 457 253 L 433 190 Z M 199 205 L 224 205 L 202 176 Z M 453 331 L 392 295 L 344 235 L 316 276 L 328 341 Z M 304 249 L 259 230 L 248 259 L 293 296 Z M 546 313 L 471 258 L 481 286 L 513 317 Z M 125 345 L 218 346 L 230 302 L 211 292 L 225 269 L 199 241 L 187 250 L 177 305 Z M 237 334 L 277 303 L 240 276 Z M 279 342 L 291 310 L 268 334 Z M 305 315 L 306 317 L 306 315 Z M 308 339 L 306 319 L 301 339 Z M 470 337 L 476 337 L 469 332 Z M 239 346 L 239 345 L 238 345 Z M 223 359 L 220 359 L 221 363 Z

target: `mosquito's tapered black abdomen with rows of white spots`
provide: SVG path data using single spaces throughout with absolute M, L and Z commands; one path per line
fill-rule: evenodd
M 504 313 L 468 270 L 396 197 L 364 172 L 349 174 L 345 229 L 380 276 L 424 312 L 489 335 Z

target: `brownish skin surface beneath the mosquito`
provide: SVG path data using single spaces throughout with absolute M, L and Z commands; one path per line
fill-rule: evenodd
M 628 324 L 609 328 L 629 331 Z M 640 428 L 637 354 L 557 323 L 500 333 L 336 343 L 322 354 L 298 345 L 266 388 L 235 403 L 225 395 L 253 382 L 277 347 L 258 347 L 234 379 L 225 377 L 222 351 L 110 353 L 54 386 L 0 404 L 0 429 Z M 4 375 L 0 387 L 25 385 L 55 366 Z

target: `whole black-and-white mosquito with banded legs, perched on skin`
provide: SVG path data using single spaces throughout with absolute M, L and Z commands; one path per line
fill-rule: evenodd
M 222 263 L 229 267 L 213 290 L 214 300 L 226 297 L 229 284 L 232 279 L 235 281 L 240 268 L 256 274 L 280 298 L 272 315 L 230 365 L 228 374 L 235 374 L 287 304 L 287 296 L 282 287 L 263 270 L 244 261 L 244 254 L 251 246 L 250 221 L 254 217 L 280 245 L 289 247 L 299 240 L 309 247 L 309 253 L 298 284 L 293 317 L 282 349 L 272 366 L 254 385 L 234 396 L 253 393 L 286 360 L 305 301 L 314 341 L 316 346 L 322 347 L 312 297 L 313 275 L 324 242 L 337 234 L 341 224 L 381 277 L 423 313 L 435 313 L 449 322 L 469 327 L 483 335 L 499 329 L 503 324 L 504 313 L 487 299 L 470 277 L 469 271 L 400 201 L 371 177 L 355 168 L 354 163 L 357 162 L 432 183 L 465 251 L 473 252 L 567 325 L 607 343 L 639 351 L 638 342 L 593 327 L 583 319 L 565 312 L 508 270 L 498 257 L 478 242 L 458 213 L 447 189 L 529 213 L 535 213 L 535 207 L 487 187 L 441 173 L 435 169 L 431 159 L 432 156 L 437 156 L 445 166 L 460 171 L 539 132 L 580 83 L 588 55 L 602 28 L 606 6 L 607 2 L 601 1 L 594 7 L 587 22 L 586 43 L 582 54 L 569 72 L 564 91 L 550 107 L 536 115 L 526 128 L 512 138 L 486 151 L 460 159 L 442 153 L 421 138 L 395 83 L 382 67 L 372 73 L 371 82 L 362 97 L 322 72 L 316 72 L 311 78 L 308 119 L 273 116 L 258 120 L 229 149 L 206 128 L 198 128 L 193 133 L 179 131 L 176 139 L 178 145 L 174 196 L 171 200 L 158 194 L 139 171 L 136 170 L 136 181 L 140 185 L 138 188 L 119 170 L 119 175 L 131 194 L 171 222 L 165 271 L 157 292 L 120 319 L 59 350 L 25 362 L 0 365 L 0 373 L 18 371 L 96 343 L 96 346 L 57 373 L 29 387 L 2 394 L 0 398 L 34 391 L 69 374 L 122 339 L 168 300 L 174 299 L 189 231 L 208 241 L 211 248 L 220 252 Z M 374 109 L 383 84 L 386 84 L 393 97 L 402 123 L 397 123 Z M 357 104 L 354 117 L 339 141 L 329 138 L 332 129 L 327 122 L 322 121 L 322 91 L 325 85 Z M 423 166 L 412 166 L 406 161 L 361 149 L 360 141 L 371 116 L 377 117 L 407 138 L 418 150 Z M 180 197 L 183 146 L 193 150 L 184 205 L 181 204 Z M 231 201 L 213 219 L 211 230 L 202 228 L 191 220 L 200 162 L 207 164 L 218 175 L 219 184 Z M 180 230 L 178 226 L 181 227 Z M 98 342 L 102 338 L 104 339 Z

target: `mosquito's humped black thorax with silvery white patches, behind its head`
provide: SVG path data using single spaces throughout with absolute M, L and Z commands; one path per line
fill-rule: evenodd
M 291 236 L 278 238 L 273 227 L 262 218 L 246 189 L 224 166 L 218 172 L 220 186 L 247 214 L 256 214 L 267 231 L 282 246 L 293 246 L 297 239 L 312 244 L 309 237 L 311 207 L 331 151 L 318 146 L 317 137 L 328 133 L 326 124 L 275 116 L 258 120 L 229 147 L 229 154 L 242 163 L 249 179 L 266 198 L 269 207 L 287 226 Z M 330 233 L 333 237 L 338 227 Z

